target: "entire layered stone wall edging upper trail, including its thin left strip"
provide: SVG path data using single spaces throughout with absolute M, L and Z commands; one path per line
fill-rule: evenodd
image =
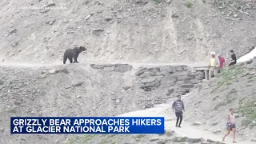
M 90 67 L 96 70 L 120 73 L 133 70 L 133 66 L 128 64 L 90 64 Z M 189 93 L 194 89 L 198 83 L 202 82 L 204 73 L 203 71 L 196 72 L 189 66 L 154 66 L 140 67 L 135 71 L 134 76 L 142 90 L 166 90 L 167 96 L 177 96 Z

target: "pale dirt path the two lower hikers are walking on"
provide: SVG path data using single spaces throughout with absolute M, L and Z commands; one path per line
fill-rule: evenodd
M 206 130 L 200 130 L 196 126 L 192 126 L 192 122 L 182 121 L 182 128 L 175 127 L 176 118 L 174 116 L 174 112 L 171 110 L 171 104 L 161 104 L 155 106 L 154 108 L 147 110 L 138 110 L 134 112 L 130 112 L 127 114 L 119 115 L 121 117 L 165 117 L 165 129 L 166 130 L 174 130 L 176 134 L 181 136 L 186 136 L 188 138 L 204 138 L 211 139 L 214 141 L 222 141 L 223 134 L 213 134 L 212 132 Z M 186 117 L 186 112 L 184 113 Z M 232 142 L 232 134 L 226 137 L 226 144 L 231 144 Z M 240 144 L 255 144 L 255 142 L 245 142 L 241 138 L 236 138 L 236 141 Z

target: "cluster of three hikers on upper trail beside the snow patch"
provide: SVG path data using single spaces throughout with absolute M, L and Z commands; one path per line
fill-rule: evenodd
M 237 56 L 234 54 L 234 50 L 229 51 L 230 62 L 228 66 L 232 66 L 237 63 Z M 219 74 L 224 66 L 226 66 L 226 59 L 222 57 L 221 54 L 216 54 L 215 52 L 210 53 L 210 65 L 209 65 L 209 78 L 214 78 L 214 75 Z

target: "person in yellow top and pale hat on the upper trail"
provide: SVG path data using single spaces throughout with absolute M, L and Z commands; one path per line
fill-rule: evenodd
M 218 70 L 219 60 L 215 56 L 216 54 L 214 52 L 211 52 L 210 55 L 211 55 L 211 58 L 210 58 L 209 78 L 214 78 L 214 75 Z

